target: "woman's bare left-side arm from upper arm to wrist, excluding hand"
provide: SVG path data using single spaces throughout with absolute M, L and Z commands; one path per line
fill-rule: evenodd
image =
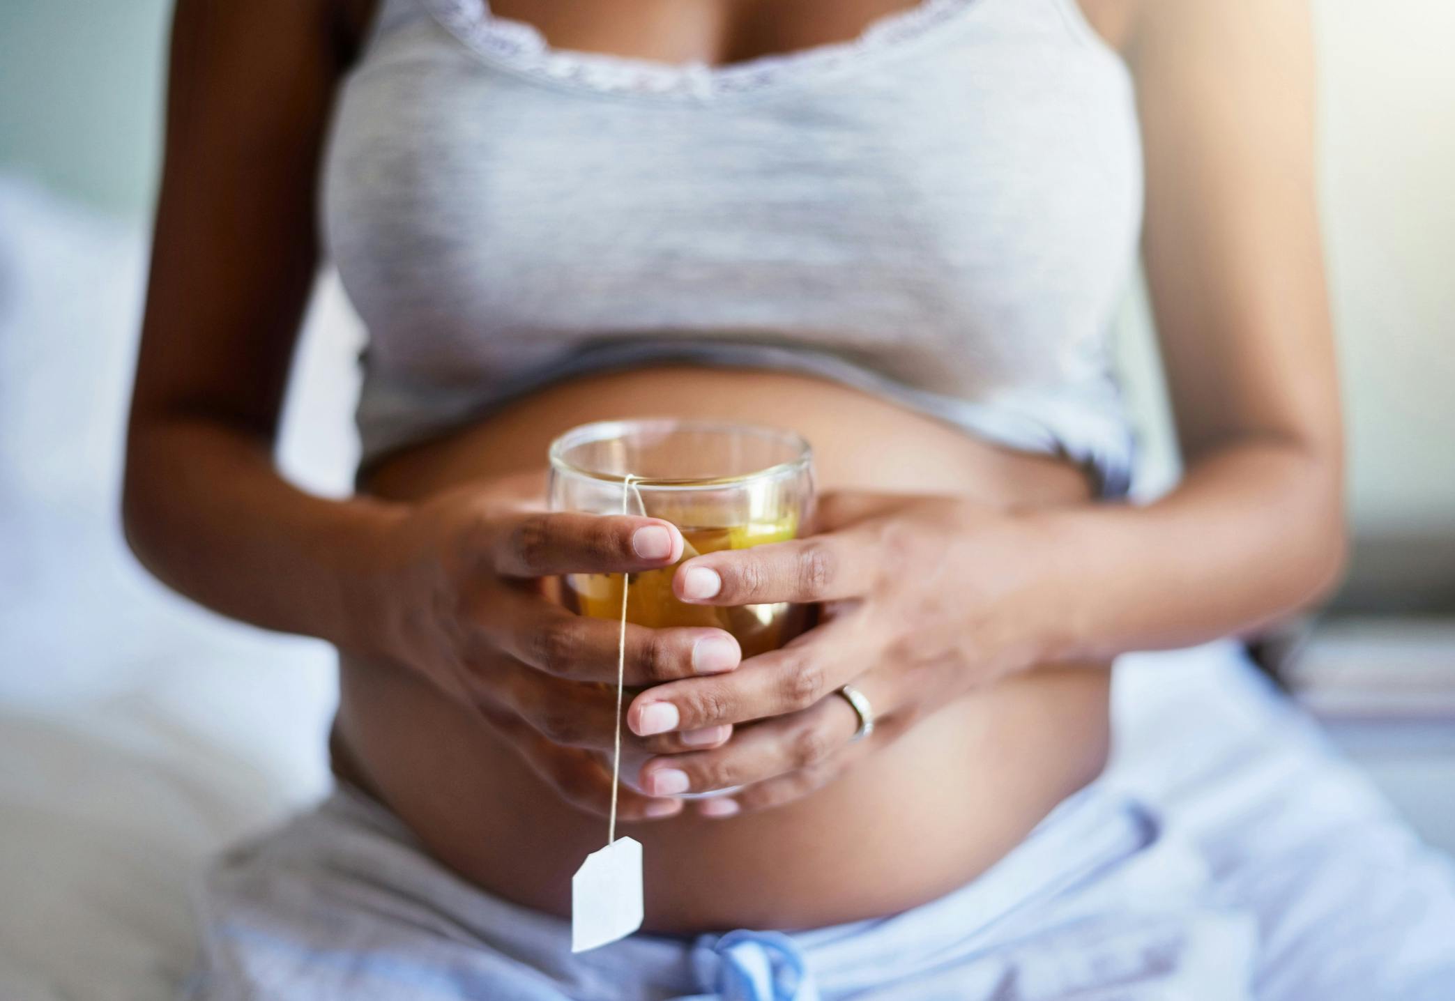
M 361 537 L 399 512 L 308 496 L 272 461 L 319 263 L 314 192 L 345 28 L 326 0 L 178 4 L 122 503 L 132 550 L 178 591 L 370 649 L 380 637 L 359 626 L 387 615 Z

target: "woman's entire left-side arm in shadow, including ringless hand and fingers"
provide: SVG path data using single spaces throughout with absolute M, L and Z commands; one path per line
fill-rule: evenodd
M 544 514 L 521 477 L 390 505 L 314 498 L 274 467 L 317 268 L 320 150 L 358 36 L 354 13 L 352 0 L 178 4 L 127 538 L 153 573 L 226 615 L 319 636 L 436 685 L 563 797 L 605 813 L 611 775 L 594 749 L 613 746 L 615 700 L 581 682 L 615 679 L 617 626 L 572 615 L 538 582 L 669 566 L 682 551 L 677 528 Z M 722 630 L 627 630 L 631 684 L 738 659 Z M 627 743 L 672 754 L 729 735 Z M 681 810 L 631 790 L 618 806 L 637 821 Z

